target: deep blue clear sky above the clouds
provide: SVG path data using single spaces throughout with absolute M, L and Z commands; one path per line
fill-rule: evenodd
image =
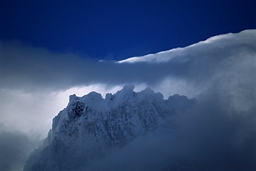
M 54 52 L 125 59 L 256 28 L 255 4 L 233 1 L 1 1 L 1 39 Z

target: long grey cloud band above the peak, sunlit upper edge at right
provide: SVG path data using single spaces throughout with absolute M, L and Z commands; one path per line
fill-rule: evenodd
M 224 34 L 192 46 L 125 61 L 93 61 L 76 54 L 57 54 L 17 41 L 1 41 L 1 88 L 67 90 L 74 86 L 127 83 L 158 86 L 166 79 L 201 87 L 218 72 L 251 70 L 255 62 L 255 30 Z M 244 73 L 247 74 L 247 73 Z M 222 76 L 221 76 L 222 77 Z

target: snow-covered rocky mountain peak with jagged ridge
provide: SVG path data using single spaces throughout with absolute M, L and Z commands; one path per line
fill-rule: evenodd
M 163 94 L 150 88 L 134 92 L 124 86 L 116 94 L 90 92 L 84 97 L 69 97 L 67 107 L 53 119 L 44 144 L 31 154 L 24 171 L 80 170 L 111 149 L 129 143 L 157 128 L 168 126 L 170 118 L 196 103 L 195 99 Z

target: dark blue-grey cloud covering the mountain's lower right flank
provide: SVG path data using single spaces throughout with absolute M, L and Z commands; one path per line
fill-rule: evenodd
M 232 118 L 210 97 L 172 119 L 170 128 L 138 137 L 91 161 L 89 170 L 254 170 L 255 114 Z

